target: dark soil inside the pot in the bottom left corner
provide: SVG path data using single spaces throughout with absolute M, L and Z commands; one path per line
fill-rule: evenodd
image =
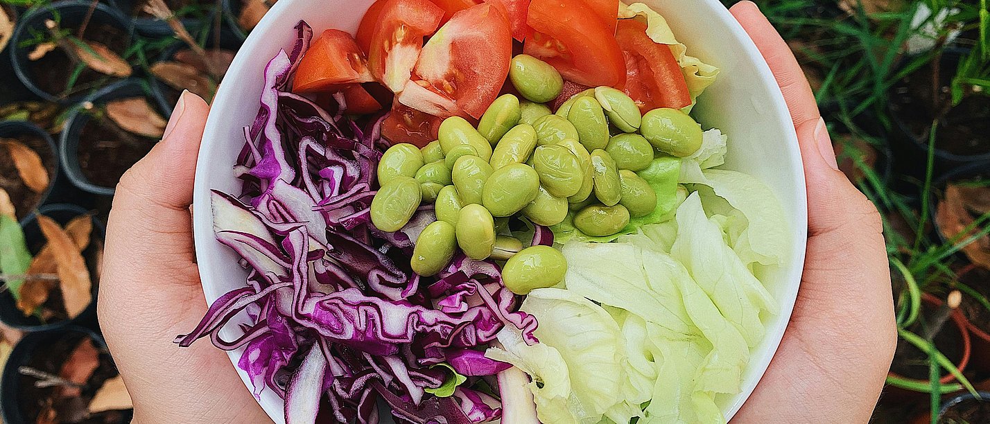
M 36 370 L 57 375 L 65 363 L 69 353 L 86 337 L 81 334 L 71 334 L 65 338 L 56 340 L 54 343 L 44 346 L 33 352 L 33 357 L 26 364 Z M 101 349 L 98 343 L 94 343 L 97 349 Z M 93 373 L 93 376 L 86 381 L 82 388 L 82 396 L 76 398 L 62 399 L 55 405 L 56 409 L 79 407 L 85 409 L 85 405 L 96 394 L 96 390 L 103 385 L 103 382 L 117 376 L 117 368 L 114 367 L 110 354 L 106 351 L 100 353 L 100 366 Z M 36 422 L 38 414 L 42 411 L 45 401 L 49 399 L 55 387 L 36 387 L 37 379 L 29 376 L 20 376 L 21 392 L 19 398 L 22 401 L 21 407 L 24 417 L 28 422 Z M 75 404 L 80 402 L 81 404 Z M 107 411 L 93 414 L 86 419 L 76 421 L 82 424 L 111 424 L 126 422 L 123 411 Z

